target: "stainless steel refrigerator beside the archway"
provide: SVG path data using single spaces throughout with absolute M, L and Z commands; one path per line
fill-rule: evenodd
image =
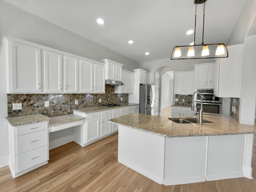
M 154 115 L 154 85 L 140 85 L 140 113 Z

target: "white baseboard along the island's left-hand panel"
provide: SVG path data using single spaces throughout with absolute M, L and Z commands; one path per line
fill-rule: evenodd
M 134 164 L 126 162 L 125 160 L 120 159 L 120 158 L 118 158 L 118 162 L 124 164 L 125 166 L 131 168 L 132 170 L 134 170 L 136 172 L 139 172 L 140 174 L 146 176 L 147 178 L 150 178 L 151 180 L 153 180 L 153 181 L 155 181 L 159 184 L 163 184 L 162 178 L 160 178 L 160 177 L 158 177 L 158 176 L 156 176 L 156 175 L 154 175 L 154 174 L 152 174 L 152 173 L 150 173 L 150 172 L 148 172 L 148 171 L 146 171 L 146 170 L 144 170 L 144 169 L 142 169 L 142 168 L 140 168 L 140 167 L 138 167 Z

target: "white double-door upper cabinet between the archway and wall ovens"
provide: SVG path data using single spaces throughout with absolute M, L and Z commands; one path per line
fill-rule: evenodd
M 174 94 L 192 95 L 194 93 L 194 71 L 174 73 Z

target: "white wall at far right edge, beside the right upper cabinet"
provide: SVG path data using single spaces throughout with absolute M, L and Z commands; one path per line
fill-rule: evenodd
M 239 122 L 254 125 L 256 106 L 256 35 L 245 38 Z

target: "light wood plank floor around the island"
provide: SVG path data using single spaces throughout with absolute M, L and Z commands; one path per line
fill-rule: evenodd
M 256 137 L 253 180 L 235 178 L 164 186 L 117 161 L 118 134 L 81 147 L 75 142 L 50 150 L 49 163 L 13 179 L 0 168 L 0 192 L 256 192 Z

